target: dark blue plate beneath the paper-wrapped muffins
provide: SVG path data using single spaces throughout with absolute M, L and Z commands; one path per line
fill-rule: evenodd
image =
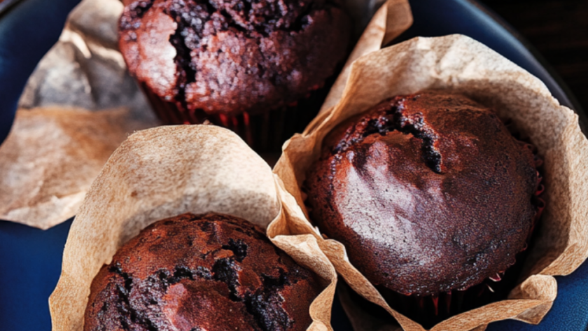
M 28 76 L 57 41 L 67 13 L 78 1 L 14 1 L 9 13 L 0 14 L 0 141 L 8 134 Z M 561 104 L 580 112 L 528 45 L 484 8 L 466 0 L 411 0 L 411 4 L 414 25 L 402 40 L 455 33 L 471 36 L 533 73 Z M 584 114 L 579 115 L 586 123 Z M 0 331 L 50 330 L 48 297 L 59 279 L 70 225 L 71 220 L 41 231 L 0 221 Z M 588 264 L 559 278 L 558 284 L 554 307 L 540 325 L 505 321 L 491 324 L 489 330 L 587 330 Z M 337 300 L 332 316 L 335 331 L 351 331 Z

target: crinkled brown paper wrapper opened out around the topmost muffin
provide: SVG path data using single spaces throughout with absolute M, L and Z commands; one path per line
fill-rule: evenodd
M 345 0 L 358 22 L 358 36 L 382 2 Z M 0 219 L 47 229 L 71 218 L 125 136 L 159 124 L 118 51 L 122 11 L 119 0 L 82 1 L 69 15 L 59 42 L 29 79 L 13 130 L 0 148 Z M 358 48 L 377 50 L 381 41 L 374 42 L 374 34 L 381 38 L 379 31 L 385 31 L 387 36 L 398 36 L 410 24 L 408 1 L 388 0 L 359 39 Z M 332 91 L 342 91 L 344 82 L 336 86 Z M 105 109 L 120 107 L 127 110 L 120 111 L 118 118 L 101 119 Z M 71 111 L 85 120 L 71 120 Z M 92 119 L 92 129 L 87 129 Z M 67 128 L 60 124 L 64 122 Z M 98 147 L 78 140 L 95 141 Z

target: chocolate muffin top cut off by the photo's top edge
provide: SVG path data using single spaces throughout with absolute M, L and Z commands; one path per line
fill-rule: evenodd
M 346 57 L 340 0 L 125 0 L 130 72 L 190 111 L 238 115 L 292 104 Z

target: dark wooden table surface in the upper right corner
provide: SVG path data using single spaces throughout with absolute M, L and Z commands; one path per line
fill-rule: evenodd
M 588 111 L 588 0 L 481 0 L 517 29 Z

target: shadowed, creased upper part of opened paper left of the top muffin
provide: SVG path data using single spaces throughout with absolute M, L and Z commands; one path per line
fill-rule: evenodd
M 73 8 L 59 41 L 29 77 L 18 107 L 127 107 L 137 117 L 154 121 L 155 114 L 118 51 L 121 13 L 119 0 L 83 0 Z

